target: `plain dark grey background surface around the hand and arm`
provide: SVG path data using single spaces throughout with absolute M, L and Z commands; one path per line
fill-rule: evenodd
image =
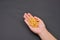
M 24 12 L 43 19 L 60 38 L 60 0 L 0 0 L 0 40 L 39 40 L 23 21 Z

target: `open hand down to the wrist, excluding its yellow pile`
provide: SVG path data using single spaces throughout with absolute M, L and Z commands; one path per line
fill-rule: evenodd
M 33 17 L 30 13 L 25 13 L 25 14 L 24 14 L 24 21 L 25 21 L 25 23 L 28 25 L 28 27 L 31 29 L 31 31 L 33 31 L 33 32 L 36 33 L 36 34 L 39 34 L 40 32 L 42 32 L 42 31 L 45 29 L 45 24 L 44 24 L 44 22 L 43 22 L 40 18 L 34 16 L 33 18 L 35 18 L 37 21 L 39 21 L 39 24 L 38 24 L 38 27 L 37 27 L 37 28 L 33 28 L 33 27 L 28 23 L 28 20 L 29 20 L 30 17 Z

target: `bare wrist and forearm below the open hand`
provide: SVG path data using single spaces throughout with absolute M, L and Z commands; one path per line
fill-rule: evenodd
M 46 28 L 38 35 L 42 40 L 57 40 Z

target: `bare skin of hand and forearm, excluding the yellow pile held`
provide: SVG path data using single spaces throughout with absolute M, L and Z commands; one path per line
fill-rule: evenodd
M 31 20 L 31 17 L 34 18 L 36 21 L 38 21 L 38 26 L 32 27 L 29 24 L 29 20 Z M 39 37 L 42 40 L 57 40 L 50 32 L 48 32 L 48 30 L 46 29 L 46 26 L 44 24 L 44 22 L 36 17 L 36 16 L 32 16 L 30 13 L 24 13 L 24 22 L 28 25 L 28 27 L 30 28 L 30 30 L 34 33 L 36 33 L 37 35 L 39 35 Z

